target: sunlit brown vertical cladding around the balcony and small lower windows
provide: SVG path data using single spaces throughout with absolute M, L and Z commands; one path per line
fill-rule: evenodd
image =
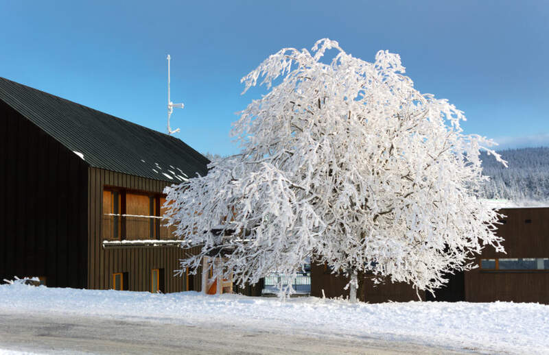
M 128 273 L 128 290 L 150 291 L 152 269 L 163 269 L 165 292 L 180 292 L 187 289 L 186 278 L 174 276 L 179 268 L 179 259 L 185 253 L 196 253 L 196 248 L 184 250 L 177 245 L 117 245 L 103 247 L 102 236 L 103 191 L 105 186 L 125 188 L 143 193 L 162 193 L 168 182 L 152 180 L 104 169 L 89 168 L 89 250 L 88 288 L 110 289 L 113 273 Z M 200 290 L 200 278 L 191 278 L 190 289 Z

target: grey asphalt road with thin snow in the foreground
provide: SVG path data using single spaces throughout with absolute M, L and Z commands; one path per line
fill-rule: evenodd
M 474 354 L 379 339 L 344 339 L 70 315 L 0 312 L 1 350 L 45 354 Z

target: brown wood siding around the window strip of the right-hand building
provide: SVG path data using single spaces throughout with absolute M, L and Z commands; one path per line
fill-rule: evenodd
M 476 258 L 477 265 L 487 258 L 549 258 L 549 208 L 508 208 L 500 212 L 506 217 L 497 234 L 504 238 L 506 254 L 487 246 Z M 549 304 L 549 270 L 467 271 L 465 300 Z

